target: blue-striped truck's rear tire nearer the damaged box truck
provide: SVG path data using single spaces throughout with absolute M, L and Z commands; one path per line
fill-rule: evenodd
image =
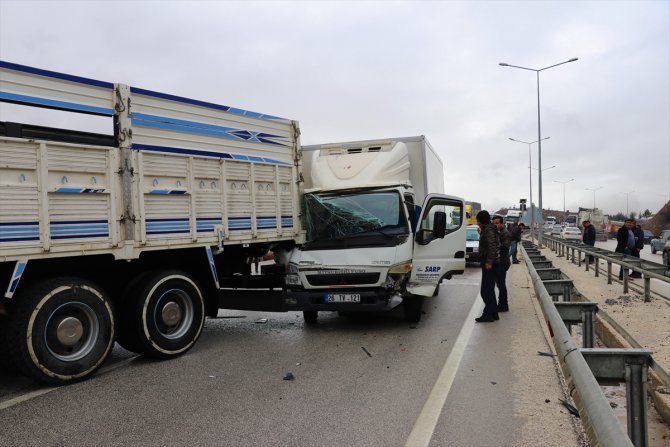
M 126 349 L 169 359 L 191 349 L 202 333 L 205 301 L 196 282 L 183 272 L 146 274 L 126 298 L 120 325 L 120 344 Z

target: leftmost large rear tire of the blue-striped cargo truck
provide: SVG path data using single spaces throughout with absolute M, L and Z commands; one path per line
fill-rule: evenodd
M 111 302 L 90 281 L 44 280 L 13 301 L 6 329 L 9 357 L 38 381 L 63 385 L 85 379 L 114 345 Z

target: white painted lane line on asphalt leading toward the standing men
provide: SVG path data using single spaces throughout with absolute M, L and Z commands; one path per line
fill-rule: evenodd
M 484 309 L 484 302 L 481 295 L 477 294 L 475 302 L 470 308 L 470 313 L 465 319 L 465 324 L 456 338 L 454 348 L 451 350 L 442 371 L 433 385 L 433 389 L 426 399 L 426 403 L 421 410 L 421 414 L 414 423 L 414 428 L 407 438 L 405 447 L 427 447 L 435 432 L 437 421 L 442 414 L 442 409 L 447 401 L 447 396 L 454 383 L 454 378 L 458 372 L 458 367 L 463 360 L 465 348 L 468 345 L 472 330 L 475 327 L 475 317 Z

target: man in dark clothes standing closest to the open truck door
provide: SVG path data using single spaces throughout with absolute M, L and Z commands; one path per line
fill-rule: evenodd
M 475 318 L 477 323 L 491 323 L 498 320 L 498 304 L 496 303 L 496 270 L 500 263 L 500 242 L 498 231 L 491 223 L 488 211 L 477 213 L 479 225 L 479 262 L 482 266 L 482 284 L 479 289 L 484 301 L 482 316 Z

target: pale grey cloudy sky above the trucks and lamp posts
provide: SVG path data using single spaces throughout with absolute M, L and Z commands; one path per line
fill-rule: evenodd
M 425 135 L 491 211 L 670 199 L 669 1 L 6 1 L 0 59 L 300 121 L 303 144 Z M 0 105 L 0 120 L 63 125 Z M 91 119 L 78 124 L 98 130 Z M 590 188 L 591 190 L 587 189 Z M 598 189 L 601 188 L 601 189 Z M 592 191 L 597 189 L 597 191 Z

